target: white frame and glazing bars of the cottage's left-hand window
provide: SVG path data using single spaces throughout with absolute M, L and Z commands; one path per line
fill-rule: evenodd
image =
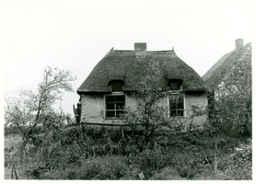
M 107 109 L 107 101 L 106 101 L 106 97 L 116 97 L 116 96 L 124 96 L 124 109 L 116 109 L 116 101 L 113 102 L 115 104 L 115 109 Z M 121 120 L 122 117 L 117 117 L 116 116 L 116 111 L 123 111 L 125 110 L 126 107 L 126 94 L 124 94 L 123 92 L 112 92 L 111 94 L 106 94 L 104 95 L 104 118 L 106 120 Z M 107 117 L 107 111 L 114 111 L 115 116 L 114 117 Z

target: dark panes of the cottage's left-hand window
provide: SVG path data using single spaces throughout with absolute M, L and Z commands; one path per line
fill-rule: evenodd
M 106 118 L 120 118 L 124 113 L 125 96 L 105 96 L 106 97 Z

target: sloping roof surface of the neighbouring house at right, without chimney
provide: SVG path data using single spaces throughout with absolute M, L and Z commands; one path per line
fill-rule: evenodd
M 247 60 L 251 63 L 251 43 L 247 43 L 232 52 L 227 53 L 203 75 L 208 90 L 213 91 L 221 84 L 225 76 L 231 72 L 233 66 L 239 61 Z

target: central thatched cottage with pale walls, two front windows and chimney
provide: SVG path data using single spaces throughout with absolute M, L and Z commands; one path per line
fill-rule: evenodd
M 111 49 L 94 67 L 78 88 L 81 121 L 122 124 L 126 108 L 135 108 L 133 92 L 141 81 L 149 63 L 158 63 L 159 86 L 169 86 L 169 95 L 162 103 L 169 114 L 180 121 L 203 124 L 206 115 L 193 114 L 193 107 L 207 107 L 204 80 L 174 52 L 146 51 L 146 43 L 134 43 L 134 51 Z

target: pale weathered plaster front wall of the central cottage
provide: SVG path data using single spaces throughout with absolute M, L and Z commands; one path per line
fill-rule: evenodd
M 131 95 L 126 95 L 125 106 L 131 109 L 136 107 L 136 100 Z M 160 103 L 168 107 L 168 98 L 162 98 Z M 194 125 L 202 125 L 207 120 L 205 109 L 208 105 L 206 95 L 202 94 L 185 94 L 185 117 L 180 118 L 186 126 L 192 122 Z M 95 123 L 122 123 L 122 120 L 105 119 L 105 101 L 104 95 L 86 95 L 81 99 L 81 121 Z M 200 109 L 204 114 L 193 114 L 193 109 Z

